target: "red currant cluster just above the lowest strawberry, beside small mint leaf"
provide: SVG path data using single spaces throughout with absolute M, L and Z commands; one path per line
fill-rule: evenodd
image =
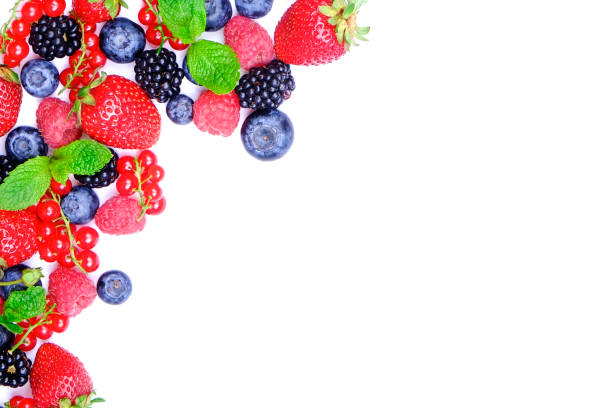
M 45 313 L 19 323 L 23 333 L 15 336 L 15 344 L 22 351 L 30 351 L 36 347 L 38 339 L 49 340 L 53 333 L 63 333 L 68 329 L 70 319 L 62 313 L 53 313 L 54 301 L 47 296 Z

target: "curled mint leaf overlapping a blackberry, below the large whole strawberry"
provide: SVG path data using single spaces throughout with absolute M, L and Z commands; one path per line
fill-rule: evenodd
M 69 174 L 91 176 L 113 157 L 111 151 L 93 140 L 76 140 L 60 147 L 51 157 L 51 173 L 55 181 L 65 183 Z

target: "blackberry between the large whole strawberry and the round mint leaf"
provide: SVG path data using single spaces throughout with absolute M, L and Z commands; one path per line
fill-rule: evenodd
M 176 54 L 162 48 L 147 50 L 136 57 L 136 82 L 151 99 L 166 103 L 181 93 L 185 72 L 176 63 Z

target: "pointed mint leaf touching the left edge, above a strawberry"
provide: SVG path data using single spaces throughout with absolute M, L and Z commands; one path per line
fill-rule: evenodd
M 49 157 L 34 157 L 11 171 L 0 185 L 0 208 L 23 210 L 36 204 L 51 184 Z

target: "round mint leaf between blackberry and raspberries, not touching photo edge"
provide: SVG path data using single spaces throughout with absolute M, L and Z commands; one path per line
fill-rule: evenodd
M 229 45 L 200 40 L 189 47 L 187 66 L 198 84 L 217 95 L 232 92 L 240 79 L 240 63 Z

